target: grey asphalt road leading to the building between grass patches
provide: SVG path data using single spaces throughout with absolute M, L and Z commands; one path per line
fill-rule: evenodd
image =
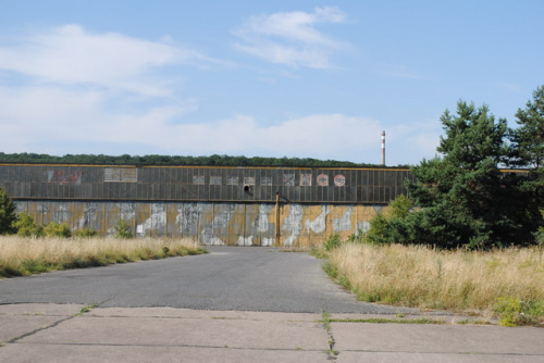
M 212 247 L 210 253 L 0 279 L 0 304 L 96 303 L 293 313 L 396 314 L 356 301 L 308 253 Z

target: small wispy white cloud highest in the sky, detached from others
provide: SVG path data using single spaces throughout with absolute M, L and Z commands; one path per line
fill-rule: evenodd
M 327 68 L 333 51 L 345 43 L 317 29 L 320 24 L 341 24 L 346 14 L 337 8 L 250 16 L 234 34 L 236 48 L 272 63 Z

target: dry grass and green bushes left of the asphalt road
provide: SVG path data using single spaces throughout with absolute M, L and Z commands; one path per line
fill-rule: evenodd
M 36 224 L 28 214 L 15 213 L 0 187 L 0 277 L 206 253 L 189 238 L 134 239 L 122 220 L 111 238 L 97 236 L 94 229 L 73 231 L 58 222 Z

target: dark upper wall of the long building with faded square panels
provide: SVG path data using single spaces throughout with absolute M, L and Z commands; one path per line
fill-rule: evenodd
M 408 170 L 0 164 L 15 200 L 387 204 Z

